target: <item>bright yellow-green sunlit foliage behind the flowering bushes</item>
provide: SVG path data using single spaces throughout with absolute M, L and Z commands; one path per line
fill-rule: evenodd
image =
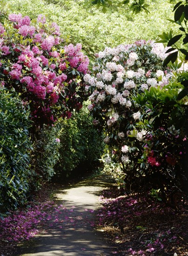
M 40 13 L 55 21 L 65 39 L 81 43 L 91 60 L 105 46 L 115 47 L 135 40 L 154 40 L 158 34 L 172 25 L 173 17 L 168 0 L 148 0 L 149 13 L 133 14 L 126 7 L 118 7 L 119 1 L 103 13 L 87 0 L 1 0 L 8 13 L 22 13 L 36 18 Z M 2 6 L 3 6 L 2 5 Z

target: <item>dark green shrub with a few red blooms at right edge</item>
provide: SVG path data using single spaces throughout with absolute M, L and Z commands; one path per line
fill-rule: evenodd
M 137 129 L 147 130 L 141 145 L 141 158 L 137 172 L 140 181 L 147 182 L 159 191 L 164 201 L 175 206 L 175 194 L 186 191 L 186 127 L 185 102 L 178 100 L 178 92 L 183 85 L 173 79 L 162 90 L 152 88 L 137 95 L 136 102 L 145 111 Z M 134 173 L 135 175 L 135 173 Z M 142 177 L 141 177 L 142 176 Z M 132 180 L 133 182 L 133 180 Z

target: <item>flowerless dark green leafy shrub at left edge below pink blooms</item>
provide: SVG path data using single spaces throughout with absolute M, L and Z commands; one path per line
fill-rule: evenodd
M 0 213 L 27 198 L 31 142 L 29 113 L 18 95 L 0 88 Z

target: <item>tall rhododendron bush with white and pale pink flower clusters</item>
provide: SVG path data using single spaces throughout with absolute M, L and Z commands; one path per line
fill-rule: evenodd
M 172 76 L 169 68 L 162 67 L 167 49 L 160 43 L 145 40 L 131 45 L 106 47 L 99 52 L 93 74 L 85 74 L 86 89 L 91 92 L 88 106 L 94 124 L 104 128 L 108 145 L 105 161 L 121 162 L 126 170 L 134 168 L 141 158 L 140 147 L 148 136 L 146 125 L 139 125 L 149 111 L 141 108 L 135 97 L 151 88 L 162 89 Z M 152 166 L 159 166 L 155 159 Z

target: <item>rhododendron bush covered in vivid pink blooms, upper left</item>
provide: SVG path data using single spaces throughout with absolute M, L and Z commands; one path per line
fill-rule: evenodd
M 86 96 L 83 76 L 89 60 L 81 44 L 65 45 L 60 27 L 10 14 L 0 23 L 0 83 L 21 93 L 36 125 L 70 117 Z

